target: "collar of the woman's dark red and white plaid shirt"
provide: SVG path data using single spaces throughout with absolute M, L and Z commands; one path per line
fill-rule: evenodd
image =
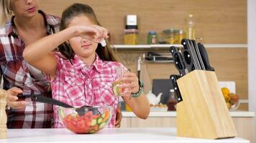
M 50 16 L 49 14 L 46 14 L 44 11 L 39 10 L 38 11 L 40 14 L 42 14 L 42 16 L 45 19 L 45 24 L 46 24 L 46 29 L 47 29 L 47 34 L 51 34 L 51 29 L 55 26 L 60 24 L 59 21 L 56 20 L 52 20 L 52 16 Z M 5 32 L 6 35 L 12 35 L 12 36 L 18 36 L 17 31 L 15 29 L 15 24 L 14 24 L 14 17 L 12 16 L 12 19 L 7 22 L 7 24 L 5 25 Z

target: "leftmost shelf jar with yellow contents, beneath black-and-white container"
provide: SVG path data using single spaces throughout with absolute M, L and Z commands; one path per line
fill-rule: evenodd
M 124 29 L 124 44 L 138 44 L 138 29 Z

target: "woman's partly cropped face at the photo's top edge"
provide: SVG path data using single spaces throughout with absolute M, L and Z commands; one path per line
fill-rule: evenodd
M 10 0 L 11 9 L 15 16 L 32 17 L 37 14 L 38 0 Z

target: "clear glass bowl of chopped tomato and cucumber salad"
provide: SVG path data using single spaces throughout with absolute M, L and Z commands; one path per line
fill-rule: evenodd
M 59 107 L 58 117 L 64 127 L 77 134 L 92 134 L 109 124 L 112 107 L 86 107 L 86 109 Z

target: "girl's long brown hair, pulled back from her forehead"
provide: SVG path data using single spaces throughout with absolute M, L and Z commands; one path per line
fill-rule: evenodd
M 81 14 L 87 16 L 91 21 L 93 21 L 94 24 L 99 26 L 101 25 L 99 24 L 99 21 L 96 18 L 96 14 L 94 13 L 91 6 L 86 4 L 73 4 L 65 9 L 65 11 L 63 11 L 60 21 L 60 30 L 66 29 L 70 20 L 73 19 L 73 17 Z M 71 48 L 70 44 L 68 44 L 68 42 L 64 42 L 58 46 L 58 50 L 61 54 L 63 54 L 63 56 L 65 56 L 66 59 L 70 60 L 74 58 L 75 52 Z M 106 46 L 104 47 L 101 46 L 101 44 L 98 44 L 96 53 L 104 61 L 119 61 L 119 58 L 114 53 L 114 49 L 110 46 L 109 41 L 106 41 Z

